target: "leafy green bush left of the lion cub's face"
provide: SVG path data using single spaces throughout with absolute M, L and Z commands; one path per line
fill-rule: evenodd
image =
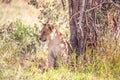
M 7 44 L 11 47 L 11 44 L 14 44 L 19 48 L 21 53 L 36 53 L 36 48 L 40 44 L 36 35 L 37 27 L 32 28 L 24 25 L 20 20 L 11 24 L 6 25 L 6 33 L 1 34 L 1 41 L 3 41 L 4 45 Z M 9 27 L 12 28 L 12 31 L 9 31 Z M 11 44 L 8 44 L 9 42 Z M 1 47 L 4 48 L 4 45 Z

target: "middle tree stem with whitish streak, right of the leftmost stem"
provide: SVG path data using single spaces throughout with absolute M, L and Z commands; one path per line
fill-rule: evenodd
M 86 48 L 86 40 L 85 40 L 85 34 L 84 34 L 84 26 L 82 24 L 83 22 L 83 16 L 84 16 L 84 10 L 85 10 L 85 0 L 78 0 L 79 1 L 79 17 L 77 22 L 77 39 L 78 39 L 78 48 L 77 48 L 77 54 L 84 54 L 85 48 Z

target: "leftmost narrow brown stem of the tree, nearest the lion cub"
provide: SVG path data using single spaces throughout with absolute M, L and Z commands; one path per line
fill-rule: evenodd
M 74 50 L 78 47 L 77 40 L 77 27 L 76 27 L 76 17 L 74 14 L 76 13 L 76 3 L 75 0 L 68 0 L 69 3 L 69 15 L 70 15 L 70 42 Z

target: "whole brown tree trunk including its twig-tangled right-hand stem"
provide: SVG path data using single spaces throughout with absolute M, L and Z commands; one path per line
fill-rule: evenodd
M 85 11 L 94 7 L 95 0 L 68 0 L 70 15 L 70 41 L 77 56 L 85 55 L 86 46 L 95 46 L 96 31 L 94 9 L 85 15 Z M 90 17 L 89 17 L 90 16 Z M 92 18 L 92 21 L 91 21 Z M 88 20 L 88 21 L 87 21 Z M 90 35 L 92 33 L 92 35 Z M 90 43 L 87 43 L 89 40 Z

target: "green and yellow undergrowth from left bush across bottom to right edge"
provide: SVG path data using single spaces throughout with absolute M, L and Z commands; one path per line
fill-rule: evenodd
M 67 66 L 41 72 L 39 65 L 48 52 L 38 40 L 38 27 L 17 20 L 0 28 L 0 80 L 120 79 L 120 39 L 115 45 L 114 39 L 102 38 L 94 53 L 87 49 L 86 60 L 81 56 L 76 63 L 73 53 Z

